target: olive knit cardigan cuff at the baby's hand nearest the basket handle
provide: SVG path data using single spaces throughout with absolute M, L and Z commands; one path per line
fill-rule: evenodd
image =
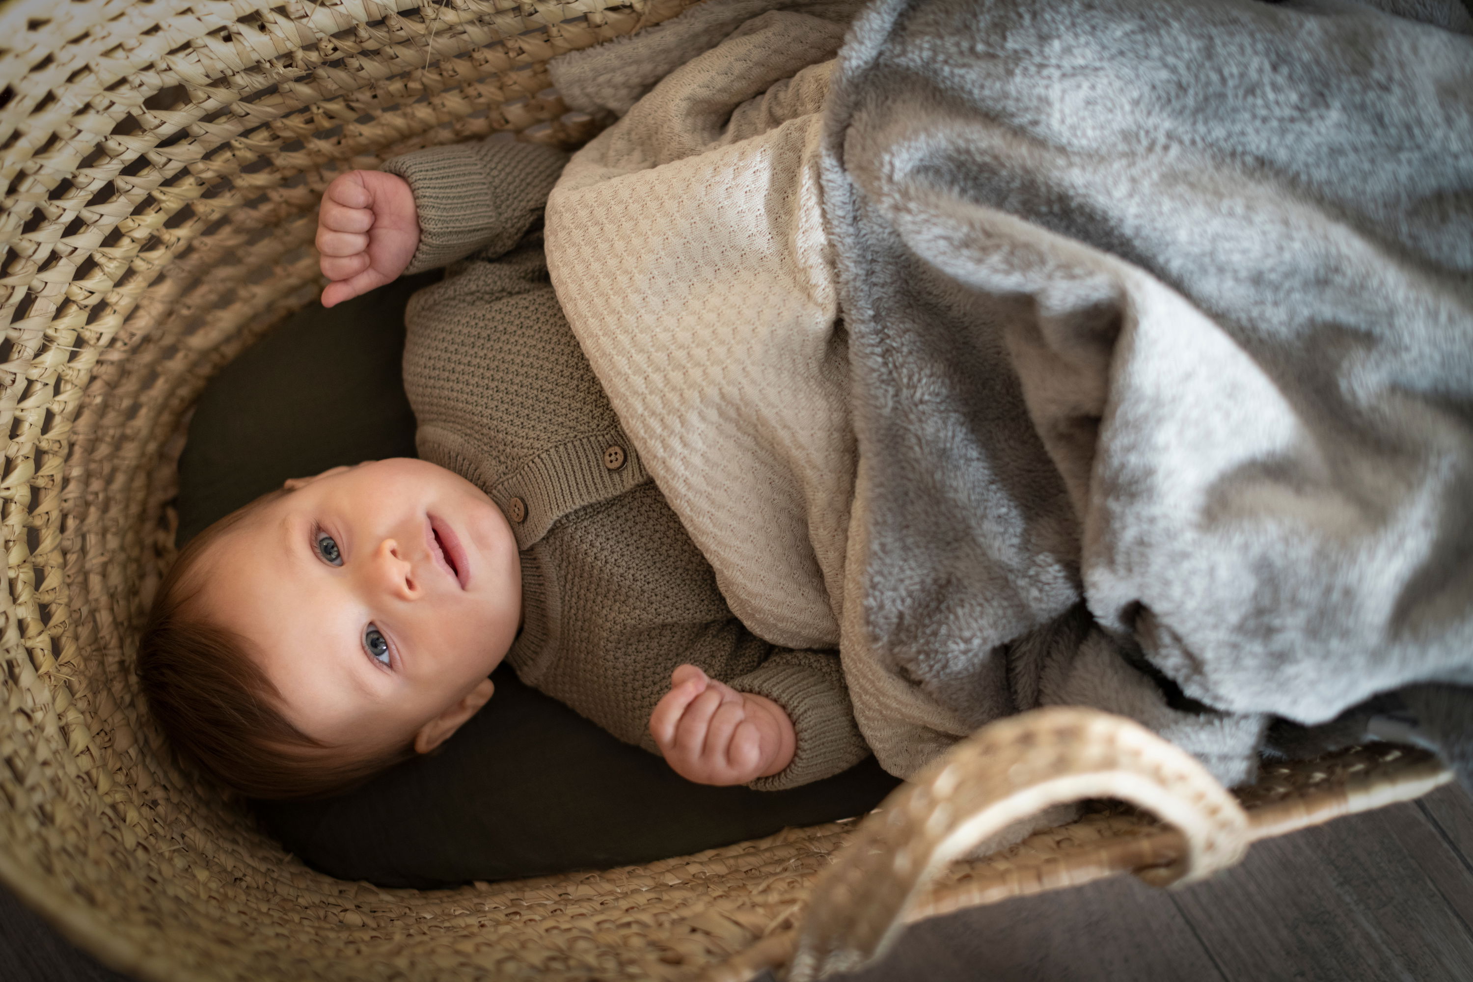
M 854 724 L 838 655 L 822 651 L 779 651 L 754 671 L 732 679 L 731 688 L 772 699 L 792 720 L 797 749 L 792 761 L 769 777 L 747 785 L 782 791 L 832 777 L 869 757 Z

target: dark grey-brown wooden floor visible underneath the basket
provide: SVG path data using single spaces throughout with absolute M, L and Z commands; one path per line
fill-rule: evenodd
M 0 979 L 127 982 L 0 895 Z M 912 928 L 848 982 L 1473 981 L 1473 802 L 1418 802 L 1255 845 L 1175 892 L 1121 876 Z

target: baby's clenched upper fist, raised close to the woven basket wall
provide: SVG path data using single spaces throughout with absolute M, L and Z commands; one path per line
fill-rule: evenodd
M 317 212 L 323 306 L 392 283 L 420 246 L 414 191 L 396 174 L 351 171 L 327 186 Z

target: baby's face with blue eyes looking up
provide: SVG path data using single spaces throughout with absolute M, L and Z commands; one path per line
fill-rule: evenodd
M 516 637 L 511 527 L 480 489 L 424 461 L 287 487 L 211 546 L 206 615 L 250 642 L 306 735 L 387 749 L 427 729 L 417 746 L 429 749 L 491 695 L 486 676 Z

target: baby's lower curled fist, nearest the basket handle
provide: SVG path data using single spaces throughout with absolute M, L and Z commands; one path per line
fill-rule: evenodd
M 650 714 L 664 760 L 698 785 L 745 785 L 792 761 L 792 720 L 772 699 L 709 679 L 695 665 L 670 676 L 672 689 Z

